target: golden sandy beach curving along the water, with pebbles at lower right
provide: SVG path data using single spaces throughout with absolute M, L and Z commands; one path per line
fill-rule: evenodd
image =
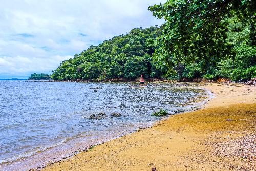
M 98 145 L 45 170 L 255 170 L 256 87 L 205 84 L 204 109 Z

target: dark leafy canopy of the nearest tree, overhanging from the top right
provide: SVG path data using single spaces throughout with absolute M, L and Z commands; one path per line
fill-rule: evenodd
M 255 1 L 250 0 L 168 0 L 148 8 L 166 23 L 158 57 L 174 66 L 181 61 L 232 55 L 227 41 L 228 19 L 249 25 L 250 44 L 255 45 Z

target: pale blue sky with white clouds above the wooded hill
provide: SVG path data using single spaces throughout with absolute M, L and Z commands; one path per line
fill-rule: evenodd
M 0 78 L 48 73 L 133 28 L 161 25 L 148 6 L 165 0 L 9 0 L 0 7 Z

